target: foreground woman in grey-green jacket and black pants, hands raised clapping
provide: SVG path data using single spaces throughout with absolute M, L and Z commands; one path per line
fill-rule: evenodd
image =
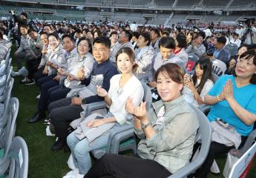
M 183 70 L 176 64 L 162 65 L 155 73 L 161 100 L 147 113 L 126 104 L 134 115 L 134 132 L 142 139 L 137 157 L 106 154 L 96 161 L 85 178 L 94 177 L 168 177 L 188 164 L 199 127 L 197 115 L 180 94 Z

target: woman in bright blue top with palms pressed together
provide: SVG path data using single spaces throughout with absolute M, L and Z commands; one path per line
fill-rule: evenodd
M 255 84 L 256 50 L 247 50 L 237 60 L 234 75 L 221 76 L 205 96 L 205 103 L 212 105 L 208 115 L 209 120 L 214 122 L 222 119 L 225 125 L 232 126 L 240 134 L 240 146 L 246 141 L 256 120 Z M 226 154 L 232 148 L 237 148 L 239 144 L 235 143 L 227 145 L 226 142 L 211 140 L 206 161 L 197 170 L 195 177 L 207 177 L 214 157 L 218 154 Z

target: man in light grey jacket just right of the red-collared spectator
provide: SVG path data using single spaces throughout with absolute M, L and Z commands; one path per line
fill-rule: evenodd
M 202 44 L 203 37 L 200 35 L 194 36 L 194 41 L 186 49 L 186 53 L 194 53 L 198 57 L 206 53 L 206 47 Z

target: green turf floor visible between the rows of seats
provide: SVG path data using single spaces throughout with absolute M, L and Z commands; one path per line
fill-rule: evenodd
M 11 51 L 11 56 L 15 47 Z M 16 62 L 13 60 L 13 68 Z M 22 136 L 27 142 L 29 153 L 29 178 L 59 178 L 67 174 L 69 170 L 67 161 L 70 153 L 64 151 L 50 151 L 54 142 L 53 136 L 46 136 L 43 120 L 36 123 L 27 123 L 27 119 L 36 112 L 39 90 L 36 85 L 22 85 L 19 81 L 22 77 L 16 77 L 13 85 L 13 97 L 19 99 L 19 114 L 17 118 L 16 136 Z M 223 171 L 226 162 L 225 155 L 217 159 L 220 170 Z M 209 174 L 209 178 L 223 177 L 222 174 Z M 249 178 L 256 177 L 256 161 L 252 164 Z

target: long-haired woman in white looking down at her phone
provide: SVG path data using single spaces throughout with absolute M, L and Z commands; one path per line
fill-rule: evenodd
M 187 102 L 195 106 L 204 104 L 204 96 L 211 90 L 211 61 L 201 57 L 195 64 L 194 75 L 185 74 L 183 94 Z

